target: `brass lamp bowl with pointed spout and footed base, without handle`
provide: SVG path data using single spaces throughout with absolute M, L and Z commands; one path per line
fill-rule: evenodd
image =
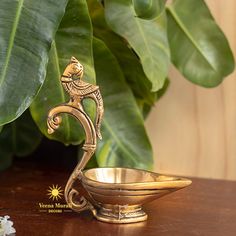
M 131 223 L 147 219 L 142 205 L 184 188 L 191 180 L 131 168 L 94 168 L 82 172 L 82 184 L 98 220 Z

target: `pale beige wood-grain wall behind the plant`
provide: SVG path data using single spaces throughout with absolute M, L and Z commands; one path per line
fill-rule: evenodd
M 207 0 L 236 55 L 236 1 Z M 146 126 L 155 171 L 236 179 L 236 73 L 213 89 L 195 86 L 171 68 L 171 84 Z

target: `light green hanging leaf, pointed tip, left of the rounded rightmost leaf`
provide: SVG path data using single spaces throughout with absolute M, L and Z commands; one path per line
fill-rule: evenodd
M 139 56 L 152 91 L 162 88 L 169 67 L 165 14 L 158 21 L 143 20 L 135 16 L 131 0 L 105 0 L 105 16 Z

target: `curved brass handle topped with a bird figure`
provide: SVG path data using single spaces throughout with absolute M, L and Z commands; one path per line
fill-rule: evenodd
M 84 82 L 82 76 L 83 66 L 75 57 L 72 57 L 61 77 L 62 85 L 69 93 L 70 100 L 68 103 L 56 106 L 49 111 L 47 125 L 48 133 L 52 134 L 60 126 L 62 121 L 60 115 L 67 113 L 75 117 L 84 128 L 83 156 L 68 179 L 64 194 L 66 202 L 73 210 L 80 212 L 90 209 L 95 214 L 93 206 L 83 196 L 79 197 L 79 192 L 73 188 L 75 181 L 81 177 L 82 169 L 96 150 L 97 137 L 102 138 L 100 133 L 104 113 L 102 96 L 99 87 Z M 85 98 L 92 98 L 97 105 L 95 126 L 83 109 L 82 101 Z M 76 197 L 79 199 L 76 200 Z

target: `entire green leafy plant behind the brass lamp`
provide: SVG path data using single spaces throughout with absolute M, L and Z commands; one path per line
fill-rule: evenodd
M 66 145 L 83 142 L 69 116 L 51 136 L 46 127 L 48 110 L 68 100 L 59 78 L 72 55 L 104 98 L 99 166 L 152 168 L 144 119 L 168 88 L 171 62 L 204 87 L 234 70 L 203 0 L 1 0 L 0 50 L 1 169 L 37 148 L 41 133 Z M 93 116 L 94 105 L 86 107 Z

